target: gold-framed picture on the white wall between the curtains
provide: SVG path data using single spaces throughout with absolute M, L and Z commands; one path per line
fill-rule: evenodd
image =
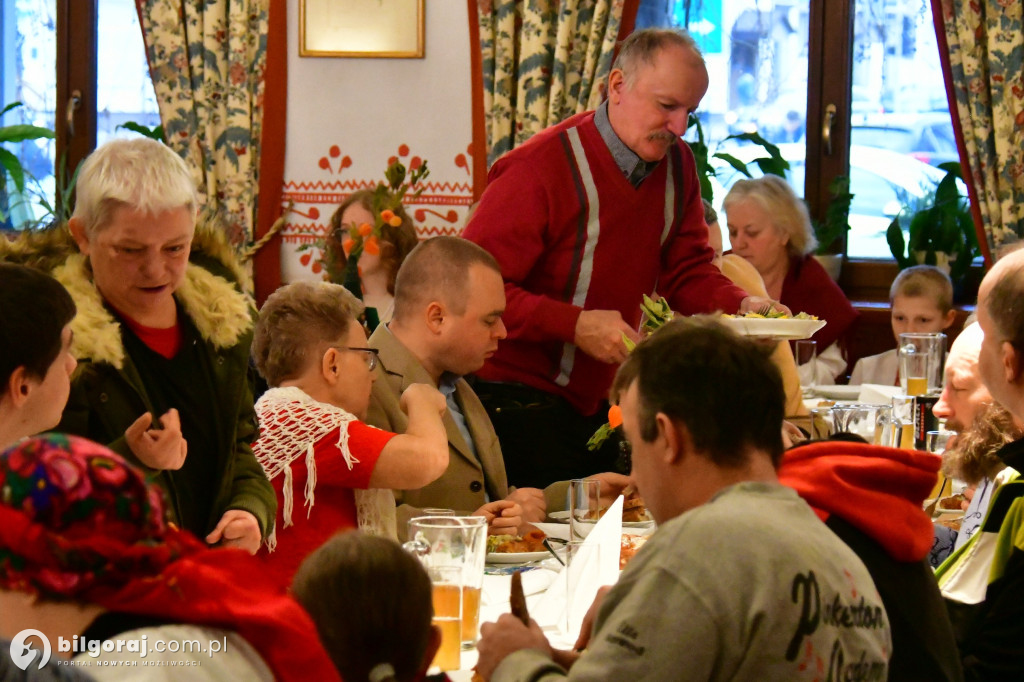
M 423 56 L 425 0 L 299 0 L 299 56 Z

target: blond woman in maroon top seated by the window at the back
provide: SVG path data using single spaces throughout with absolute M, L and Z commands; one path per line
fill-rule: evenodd
M 857 311 L 809 255 L 817 247 L 817 240 L 807 207 L 776 175 L 737 181 L 722 207 L 732 253 L 757 268 L 768 296 L 794 313 L 807 312 L 827 321 L 814 335 L 818 345 L 814 382 L 836 383 L 846 371 L 844 345 Z

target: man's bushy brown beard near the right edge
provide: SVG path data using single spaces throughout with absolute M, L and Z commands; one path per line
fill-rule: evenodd
M 983 478 L 992 479 L 1007 467 L 996 453 L 1021 436 L 1024 430 L 1014 423 L 1006 408 L 995 402 L 986 404 L 942 456 L 942 473 L 969 485 L 977 485 Z

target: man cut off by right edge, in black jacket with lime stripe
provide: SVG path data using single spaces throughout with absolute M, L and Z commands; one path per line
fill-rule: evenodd
M 984 334 L 978 370 L 992 398 L 1024 423 L 1024 251 L 1000 258 L 978 289 L 978 325 Z M 999 459 L 1024 471 L 1024 438 L 999 449 Z M 1019 475 L 992 496 L 988 515 L 971 545 L 991 545 L 984 601 L 957 631 L 967 680 L 1024 679 L 1024 480 Z M 953 554 L 947 562 L 955 561 Z M 987 579 L 987 580 L 986 580 Z M 944 588 L 944 594 L 949 596 Z

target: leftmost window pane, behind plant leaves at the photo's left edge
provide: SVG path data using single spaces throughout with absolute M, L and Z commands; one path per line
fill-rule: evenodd
M 53 129 L 56 102 L 56 0 L 0 0 L 0 126 L 29 124 Z M 49 139 L 8 142 L 4 148 L 26 171 L 26 190 L 7 182 L 0 196 L 0 227 L 18 227 L 41 216 L 39 197 L 52 196 L 54 143 Z

